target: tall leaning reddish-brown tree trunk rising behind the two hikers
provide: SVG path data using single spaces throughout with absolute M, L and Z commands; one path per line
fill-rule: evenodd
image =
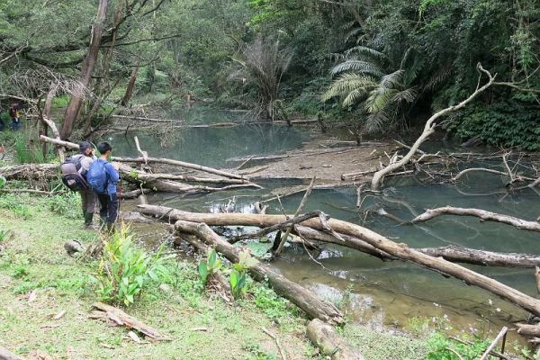
M 83 63 L 81 70 L 80 84 L 85 88 L 90 85 L 92 73 L 94 72 L 95 62 L 99 56 L 99 49 L 101 47 L 101 40 L 103 36 L 103 29 L 105 26 L 105 17 L 107 15 L 108 0 L 99 0 L 97 8 L 97 16 L 94 26 L 92 27 L 92 39 L 88 47 L 88 53 Z M 64 116 L 64 122 L 62 123 L 62 129 L 60 130 L 61 139 L 67 139 L 71 136 L 73 131 L 73 124 L 76 121 L 76 117 L 81 110 L 83 103 L 83 96 L 81 94 L 73 94 L 71 101 L 67 105 L 66 114 Z

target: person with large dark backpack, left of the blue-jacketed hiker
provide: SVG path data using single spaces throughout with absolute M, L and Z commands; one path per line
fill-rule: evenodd
M 79 144 L 79 153 L 73 157 L 68 157 L 60 166 L 62 172 L 62 182 L 73 191 L 81 195 L 83 217 L 85 218 L 85 229 L 93 227 L 95 204 L 97 196 L 86 181 L 86 174 L 90 166 L 94 163 L 94 148 L 83 141 Z

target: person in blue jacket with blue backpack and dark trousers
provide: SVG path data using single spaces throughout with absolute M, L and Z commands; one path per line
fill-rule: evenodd
M 108 142 L 101 142 L 97 145 L 100 157 L 90 166 L 86 179 L 88 184 L 97 194 L 101 210 L 99 216 L 106 229 L 112 231 L 118 216 L 118 195 L 116 194 L 116 184 L 120 180 L 117 168 L 107 161 L 111 156 L 112 147 Z M 117 166 L 116 166 L 117 167 Z

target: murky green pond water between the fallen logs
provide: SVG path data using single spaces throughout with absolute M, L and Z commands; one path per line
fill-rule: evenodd
M 270 125 L 239 126 L 227 129 L 182 130 L 169 148 L 161 148 L 156 134 L 139 134 L 143 148 L 152 156 L 172 157 L 208 166 L 227 166 L 225 159 L 251 154 L 277 153 L 299 147 L 309 135 L 301 130 Z M 113 136 L 117 155 L 135 155 L 132 134 Z M 465 164 L 466 165 L 466 164 Z M 219 211 L 235 197 L 235 211 L 252 211 L 251 204 L 277 187 L 298 184 L 272 181 L 260 183 L 265 190 L 242 190 L 182 196 L 157 194 L 150 203 L 165 204 L 186 211 Z M 383 208 L 401 220 L 411 220 L 424 209 L 451 204 L 476 207 L 536 219 L 540 214 L 540 196 L 527 189 L 506 193 L 498 175 L 471 175 L 456 187 L 448 184 L 422 185 L 414 179 L 387 184 L 393 192 L 384 197 L 367 197 L 364 210 Z M 482 195 L 479 195 L 483 193 Z M 485 195 L 485 193 L 492 193 Z M 293 212 L 302 194 L 284 198 L 287 211 Z M 270 202 L 268 213 L 280 213 L 277 202 Z M 356 188 L 315 190 L 305 211 L 320 210 L 331 217 L 362 224 L 410 247 L 461 245 L 501 252 L 538 253 L 540 236 L 508 225 L 481 223 L 475 218 L 447 216 L 418 226 L 399 225 L 370 212 L 356 210 Z M 365 220 L 364 220 L 365 219 Z M 302 249 L 289 248 L 275 266 L 288 278 L 310 287 L 335 302 L 347 302 L 356 320 L 382 325 L 407 325 L 414 317 L 448 316 L 461 329 L 480 329 L 489 320 L 492 329 L 522 320 L 525 311 L 495 298 L 491 293 L 452 278 L 404 262 L 383 262 L 355 250 L 327 246 L 311 261 Z M 524 293 L 536 294 L 534 271 L 500 267 L 473 268 Z

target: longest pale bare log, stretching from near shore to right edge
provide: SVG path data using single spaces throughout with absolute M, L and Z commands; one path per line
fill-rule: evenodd
M 162 220 L 184 220 L 193 222 L 204 222 L 209 225 L 227 226 L 227 225 L 244 225 L 258 226 L 264 228 L 266 226 L 275 225 L 276 223 L 286 220 L 284 215 L 260 215 L 246 213 L 193 213 L 186 211 L 178 211 L 172 208 L 166 208 L 155 205 L 139 205 L 140 211 L 148 215 L 159 216 Z M 312 229 L 324 230 L 320 220 L 310 219 L 301 223 L 303 226 Z M 366 229 L 362 226 L 352 224 L 343 220 L 328 220 L 328 225 L 340 234 L 349 235 L 353 238 L 364 240 L 369 245 L 402 260 L 410 261 L 419 266 L 426 267 L 438 273 L 453 276 L 466 284 L 478 286 L 484 290 L 500 296 L 515 305 L 518 305 L 526 311 L 530 311 L 535 315 L 540 315 L 540 300 L 528 296 L 525 293 L 500 282 L 491 279 L 486 275 L 481 275 L 464 266 L 456 265 L 447 261 L 442 257 L 430 257 L 413 248 L 407 247 L 404 244 L 397 244 L 388 238 L 376 232 Z M 344 241 L 343 245 L 347 242 Z

